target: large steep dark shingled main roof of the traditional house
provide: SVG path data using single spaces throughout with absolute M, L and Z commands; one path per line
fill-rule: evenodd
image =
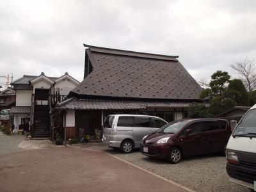
M 147 58 L 144 53 L 132 56 L 131 52 L 97 47 L 86 52 L 93 71 L 73 93 L 131 99 L 199 99 L 202 88 L 176 57 L 166 56 L 170 60 L 164 60 L 164 56 L 153 58 L 154 54 L 149 54 Z

